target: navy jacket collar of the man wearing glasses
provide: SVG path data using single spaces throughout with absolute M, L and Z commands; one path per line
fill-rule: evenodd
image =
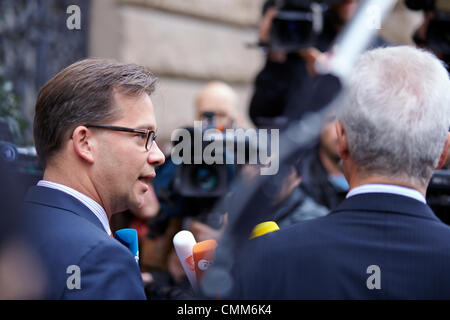
M 103 232 L 105 231 L 100 220 L 88 207 L 86 207 L 78 199 L 65 192 L 47 187 L 33 186 L 28 189 L 28 192 L 25 195 L 25 202 L 37 203 L 44 206 L 69 211 L 90 221 L 99 227 Z

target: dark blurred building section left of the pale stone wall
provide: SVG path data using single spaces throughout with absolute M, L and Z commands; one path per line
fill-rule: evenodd
M 64 67 L 87 56 L 90 2 L 0 0 L 0 120 L 13 131 L 14 139 L 8 139 L 15 144 L 33 144 L 39 89 Z M 81 9 L 81 30 L 66 26 L 69 5 Z M 4 127 L 2 123 L 0 135 Z

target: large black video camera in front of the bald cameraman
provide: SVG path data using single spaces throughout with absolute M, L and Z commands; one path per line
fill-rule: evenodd
M 157 169 L 153 185 L 164 215 L 195 216 L 197 220 L 217 228 L 223 212 L 213 213 L 213 208 L 219 199 L 229 194 L 241 167 L 234 161 L 237 159 L 231 157 L 239 151 L 245 154 L 244 162 L 247 162 L 248 155 L 257 152 L 258 148 L 247 136 L 235 135 L 235 130 L 217 130 L 212 112 L 205 112 L 201 120 L 194 127 L 175 132 L 184 133 L 173 140 L 174 149 L 185 146 L 180 152 L 183 159 L 177 160 L 172 152 L 165 164 Z M 221 147 L 207 152 L 212 146 Z M 205 154 L 220 161 L 212 163 Z

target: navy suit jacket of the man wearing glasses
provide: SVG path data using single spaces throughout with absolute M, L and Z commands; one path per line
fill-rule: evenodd
M 74 197 L 31 187 L 24 203 L 27 234 L 42 262 L 46 299 L 145 299 L 139 268 L 129 250 L 108 235 Z M 80 268 L 81 289 L 69 289 Z M 69 279 L 69 283 L 75 283 Z

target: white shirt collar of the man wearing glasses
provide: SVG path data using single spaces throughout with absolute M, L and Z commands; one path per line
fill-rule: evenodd
M 56 190 L 65 192 L 65 193 L 71 195 L 72 197 L 76 198 L 77 200 L 79 200 L 86 207 L 88 207 L 89 210 L 92 211 L 92 213 L 97 217 L 98 220 L 100 220 L 106 233 L 111 235 L 111 228 L 109 226 L 108 215 L 106 214 L 105 209 L 103 209 L 103 207 L 100 204 L 98 204 L 95 200 L 91 199 L 87 195 L 85 195 L 75 189 L 72 189 L 68 186 L 65 186 L 65 185 L 62 185 L 62 184 L 59 184 L 56 182 L 40 180 L 37 183 L 37 185 L 40 187 L 52 188 L 52 189 L 56 189 Z

